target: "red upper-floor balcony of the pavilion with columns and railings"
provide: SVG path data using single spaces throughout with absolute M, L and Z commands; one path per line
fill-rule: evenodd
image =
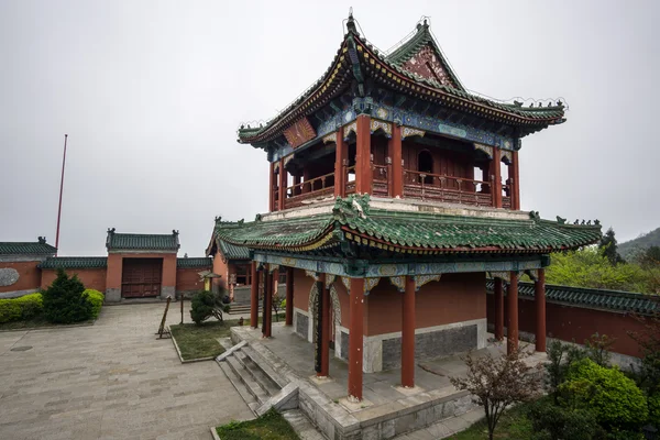
M 370 132 L 367 155 L 359 141 L 320 144 L 273 163 L 271 210 L 354 193 L 519 209 L 517 152 L 433 135 L 393 142 Z

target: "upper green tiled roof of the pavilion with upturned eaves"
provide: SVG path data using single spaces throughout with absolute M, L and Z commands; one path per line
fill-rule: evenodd
M 349 21 L 352 21 L 352 18 Z M 265 124 L 258 128 L 241 127 L 239 142 L 254 145 L 276 139 L 292 123 L 301 117 L 312 114 L 341 95 L 350 87 L 353 79 L 363 82 L 365 76 L 416 98 L 517 127 L 520 136 L 564 122 L 564 106 L 561 102 L 548 107 L 522 107 L 521 103 L 502 103 L 465 91 L 449 63 L 443 58 L 442 62 L 457 87 L 442 85 L 436 79 L 422 78 L 402 67 L 404 61 L 415 54 L 422 44 L 429 42 L 438 47 L 428 26 L 422 25 L 410 41 L 391 55 L 385 55 L 372 46 L 356 30 L 349 28 L 332 63 L 321 78 Z M 439 50 L 438 53 L 440 54 Z

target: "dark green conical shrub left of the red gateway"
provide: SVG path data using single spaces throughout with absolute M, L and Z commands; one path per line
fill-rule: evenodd
M 85 286 L 77 275 L 68 277 L 63 270 L 57 271 L 57 278 L 43 293 L 44 315 L 55 323 L 86 321 L 92 317 L 92 304 L 87 300 Z

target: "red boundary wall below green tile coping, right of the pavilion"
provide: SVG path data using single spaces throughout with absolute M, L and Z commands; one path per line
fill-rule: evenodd
M 487 296 L 488 323 L 495 322 L 495 298 Z M 504 324 L 507 322 L 506 297 Z M 518 328 L 520 331 L 536 333 L 536 305 L 530 299 L 518 299 Z M 607 334 L 616 341 L 612 351 L 639 356 L 639 346 L 628 331 L 642 331 L 644 327 L 630 315 L 594 310 L 582 307 L 546 304 L 546 332 L 550 338 L 562 341 L 584 343 L 592 334 Z

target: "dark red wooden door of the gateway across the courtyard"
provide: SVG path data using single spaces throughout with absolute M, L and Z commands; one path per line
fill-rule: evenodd
M 142 298 L 161 295 L 162 258 L 123 258 L 121 296 Z

